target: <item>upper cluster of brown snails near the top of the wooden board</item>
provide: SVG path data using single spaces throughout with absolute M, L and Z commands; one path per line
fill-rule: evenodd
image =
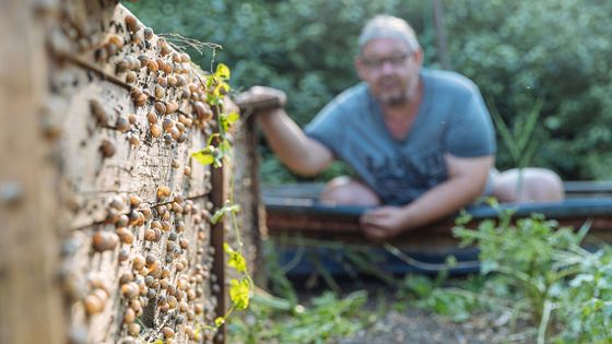
M 174 51 L 164 37 L 155 37 L 149 27 L 142 28 L 131 14 L 125 17 L 125 32 L 126 37 L 107 35 L 103 49 L 105 61 L 114 63 L 114 72 L 130 85 L 130 97 L 137 108 L 153 105 L 146 112 L 150 138 L 172 144 L 187 141 L 193 127 L 210 133 L 208 124 L 212 123 L 214 112 L 207 103 L 204 83 L 192 76 L 189 55 Z M 132 54 L 133 49 L 126 49 L 128 46 L 137 46 L 140 52 Z M 127 52 L 120 56 L 123 50 Z M 141 132 L 133 129 L 136 114 L 119 114 L 115 123 L 109 123 L 108 115 L 96 100 L 91 100 L 91 111 L 98 126 L 127 132 L 126 138 L 132 146 L 141 144 Z M 101 151 L 104 157 L 115 154 L 111 142 L 102 142 Z

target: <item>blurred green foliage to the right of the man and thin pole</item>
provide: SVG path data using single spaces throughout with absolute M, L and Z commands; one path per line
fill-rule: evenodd
M 610 178 L 610 1 L 448 3 L 454 68 L 472 78 L 506 122 L 541 95 L 533 163 L 572 179 Z M 605 91 L 604 91 L 605 90 Z M 602 129 L 605 128 L 605 129 Z M 498 164 L 511 166 L 507 150 Z

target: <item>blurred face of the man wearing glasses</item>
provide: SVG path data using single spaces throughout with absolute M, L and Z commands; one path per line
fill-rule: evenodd
M 363 47 L 355 68 L 382 105 L 399 106 L 416 92 L 421 61 L 421 50 L 411 51 L 404 41 L 376 38 Z

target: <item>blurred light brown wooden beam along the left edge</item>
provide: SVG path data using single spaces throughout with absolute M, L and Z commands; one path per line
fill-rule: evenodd
M 58 164 L 44 138 L 46 12 L 0 2 L 0 343 L 67 343 L 58 283 Z M 40 4 L 38 4 L 40 5 Z

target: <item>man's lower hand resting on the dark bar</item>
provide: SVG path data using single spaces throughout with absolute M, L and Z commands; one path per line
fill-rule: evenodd
M 387 205 L 364 213 L 360 224 L 368 239 L 386 241 L 407 229 L 405 215 L 402 207 Z

